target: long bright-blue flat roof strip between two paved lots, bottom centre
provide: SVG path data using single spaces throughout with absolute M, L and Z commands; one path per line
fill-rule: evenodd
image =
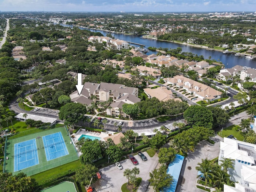
M 173 176 L 173 182 L 171 186 L 164 188 L 164 192 L 175 192 L 183 161 L 184 156 L 176 154 L 174 161 L 169 164 L 167 173 Z

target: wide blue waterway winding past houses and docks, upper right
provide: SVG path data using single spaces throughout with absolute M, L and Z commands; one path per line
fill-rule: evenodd
M 63 26 L 68 26 L 68 25 L 63 25 Z M 70 26 L 68 26 L 68 27 L 70 27 Z M 85 28 L 80 28 L 80 29 L 85 29 Z M 88 30 L 88 29 L 86 29 L 86 30 Z M 90 29 L 90 31 L 100 32 L 103 36 L 106 36 L 106 34 L 108 34 L 108 32 L 101 31 L 101 30 Z M 222 54 L 222 52 L 220 52 L 220 51 L 207 51 L 205 48 L 189 46 L 186 44 L 159 41 L 159 40 L 155 40 L 155 39 L 144 39 L 144 38 L 142 38 L 141 35 L 124 35 L 124 34 L 116 34 L 116 33 L 111 33 L 111 34 L 116 39 L 143 44 L 143 45 L 145 45 L 145 48 L 148 48 L 148 47 L 160 48 L 161 47 L 161 48 L 168 48 L 168 49 L 169 48 L 176 49 L 176 48 L 180 47 L 180 48 L 182 48 L 182 52 L 191 52 L 193 54 L 197 54 L 198 56 L 202 55 L 202 56 L 204 56 L 205 59 L 208 59 L 210 56 L 211 59 L 222 62 L 226 68 L 232 68 L 235 65 L 256 68 L 256 59 L 252 60 L 252 59 L 248 59 L 245 57 L 238 57 L 238 56 L 234 56 L 234 54 Z M 136 45 L 134 45 L 134 46 L 136 46 Z M 152 54 L 152 53 L 155 54 L 156 52 L 150 51 L 147 54 Z

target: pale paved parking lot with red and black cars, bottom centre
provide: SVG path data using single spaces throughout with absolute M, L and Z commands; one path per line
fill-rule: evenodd
M 115 164 L 100 169 L 102 172 L 102 178 L 92 186 L 96 188 L 96 191 L 100 192 L 121 191 L 121 186 L 128 182 L 128 179 L 124 176 L 124 170 L 137 167 L 140 169 L 140 174 L 136 175 L 136 177 L 142 178 L 142 184 L 139 189 L 140 191 L 146 192 L 146 181 L 149 179 L 149 173 L 158 164 L 158 156 L 155 155 L 154 157 L 150 158 L 146 152 L 143 152 L 143 154 L 148 158 L 147 161 L 142 161 L 138 155 L 134 156 L 138 161 L 138 165 L 133 165 L 129 159 L 126 159 L 120 162 L 123 166 L 122 170 L 119 170 Z

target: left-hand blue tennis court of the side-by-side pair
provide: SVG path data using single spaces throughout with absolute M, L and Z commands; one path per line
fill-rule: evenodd
M 36 139 L 14 144 L 14 172 L 39 164 Z

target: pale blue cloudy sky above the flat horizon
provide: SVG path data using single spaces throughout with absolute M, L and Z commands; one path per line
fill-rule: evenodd
M 0 0 L 0 11 L 255 12 L 256 0 Z

